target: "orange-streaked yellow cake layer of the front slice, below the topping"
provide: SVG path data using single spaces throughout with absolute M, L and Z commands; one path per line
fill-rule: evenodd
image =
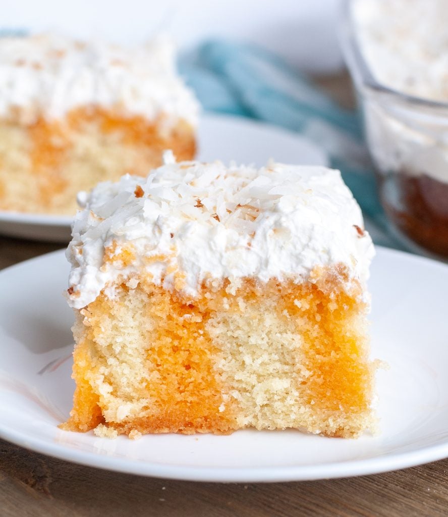
M 204 284 L 187 300 L 141 277 L 78 311 L 78 388 L 65 427 L 131 438 L 248 427 L 356 437 L 374 429 L 377 365 L 356 281 L 348 289 L 338 268 L 300 284 L 229 285 Z

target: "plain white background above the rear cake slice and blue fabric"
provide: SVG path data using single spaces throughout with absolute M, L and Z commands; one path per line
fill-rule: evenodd
M 58 29 L 138 42 L 165 29 L 187 49 L 206 37 L 255 41 L 292 65 L 331 71 L 342 65 L 336 36 L 341 0 L 14 0 L 3 5 L 5 28 Z M 3 2 L 6 4 L 6 2 Z

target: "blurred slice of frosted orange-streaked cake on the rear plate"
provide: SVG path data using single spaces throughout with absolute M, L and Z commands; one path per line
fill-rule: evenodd
M 198 104 L 166 39 L 127 49 L 0 38 L 0 210 L 74 214 L 76 193 L 194 158 Z

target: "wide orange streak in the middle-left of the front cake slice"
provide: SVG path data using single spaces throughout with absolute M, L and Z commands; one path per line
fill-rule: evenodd
M 193 430 L 231 431 L 229 410 L 219 410 L 224 386 L 214 370 L 217 349 L 205 329 L 209 311 L 200 307 L 200 301 L 186 304 L 174 293 L 167 296 L 160 287 L 149 288 L 153 290 L 152 311 L 160 324 L 148 347 L 148 360 L 157 370 L 159 382 L 148 384 L 148 391 L 158 401 L 159 415 L 152 422 L 141 422 L 137 429 L 187 434 Z

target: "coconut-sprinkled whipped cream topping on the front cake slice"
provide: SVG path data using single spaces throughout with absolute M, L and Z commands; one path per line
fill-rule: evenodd
M 195 297 L 203 281 L 255 277 L 302 282 L 344 264 L 365 282 L 374 254 L 361 210 L 339 171 L 270 163 L 165 165 L 82 194 L 67 250 L 69 303 L 82 308 L 141 272 Z M 105 249 L 117 260 L 104 260 Z M 125 264 L 120 253 L 130 249 Z

